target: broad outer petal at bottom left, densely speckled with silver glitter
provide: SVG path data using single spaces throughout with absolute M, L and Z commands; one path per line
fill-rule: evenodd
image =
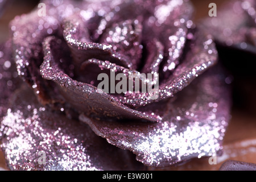
M 129 151 L 98 137 L 89 126 L 52 113 L 27 86 L 16 94 L 0 127 L 1 148 L 11 170 L 141 170 Z

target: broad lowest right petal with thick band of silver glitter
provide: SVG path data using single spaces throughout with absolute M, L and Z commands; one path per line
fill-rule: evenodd
M 133 151 L 137 160 L 165 167 L 222 150 L 229 121 L 230 90 L 223 70 L 215 67 L 169 102 L 158 123 L 80 120 L 117 147 Z

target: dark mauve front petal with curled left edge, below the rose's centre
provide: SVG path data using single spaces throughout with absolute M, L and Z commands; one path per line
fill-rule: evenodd
M 96 114 L 97 117 L 108 117 L 115 119 L 145 119 L 147 121 L 158 121 L 156 117 L 143 114 L 121 104 L 115 97 L 106 94 L 96 86 L 73 80 L 59 67 L 59 62 L 54 59 L 55 52 L 52 51 L 52 43 L 61 42 L 61 39 L 48 37 L 43 43 L 44 61 L 40 67 L 43 78 L 56 83 L 56 88 L 77 111 L 87 115 Z M 65 42 L 54 44 L 56 50 L 62 50 Z

